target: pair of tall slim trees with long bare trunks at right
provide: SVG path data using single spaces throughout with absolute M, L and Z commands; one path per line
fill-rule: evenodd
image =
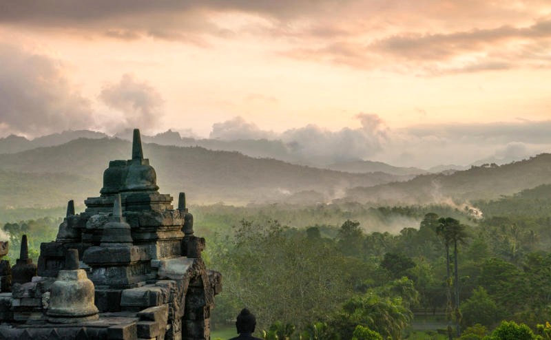
M 451 312 L 451 279 L 450 279 L 450 245 L 453 244 L 453 257 L 454 257 L 454 276 L 455 276 L 455 324 L 457 337 L 461 335 L 461 330 L 459 328 L 459 321 L 461 321 L 461 313 L 459 311 L 459 274 L 457 268 L 457 244 L 465 244 L 465 240 L 468 237 L 468 234 L 465 231 L 465 226 L 460 224 L 458 220 L 455 220 L 452 217 L 441 217 L 439 220 L 439 225 L 437 226 L 436 232 L 442 240 L 444 240 L 444 246 L 446 246 L 446 271 L 448 277 L 446 281 L 448 282 L 448 306 L 446 307 L 446 312 Z M 448 337 L 452 339 L 450 332 L 450 315 L 448 315 Z

